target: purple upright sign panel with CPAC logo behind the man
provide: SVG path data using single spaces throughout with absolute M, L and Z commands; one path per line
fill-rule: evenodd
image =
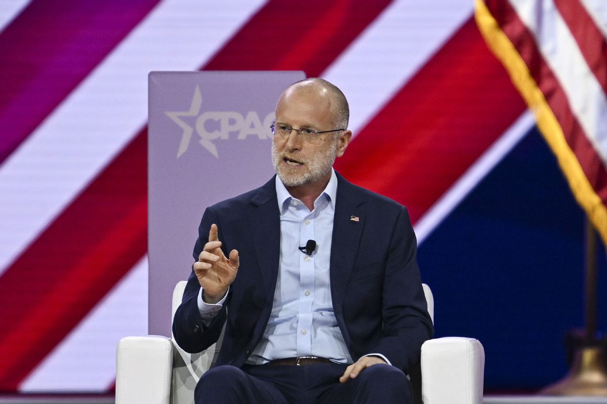
M 149 74 L 150 334 L 171 336 L 171 296 L 188 278 L 205 208 L 265 183 L 280 93 L 303 71 Z

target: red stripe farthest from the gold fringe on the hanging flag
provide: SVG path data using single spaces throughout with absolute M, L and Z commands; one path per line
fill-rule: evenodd
M 607 93 L 607 42 L 580 0 L 554 0 L 588 67 Z

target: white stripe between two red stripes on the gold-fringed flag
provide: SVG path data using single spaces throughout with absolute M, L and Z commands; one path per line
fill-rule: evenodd
M 552 0 L 510 0 L 536 37 L 569 105 L 597 154 L 607 165 L 607 97 Z

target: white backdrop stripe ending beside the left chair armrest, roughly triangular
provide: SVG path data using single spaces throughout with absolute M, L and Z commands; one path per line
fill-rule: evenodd
M 19 385 L 21 392 L 105 392 L 116 377 L 122 337 L 148 334 L 144 256 Z

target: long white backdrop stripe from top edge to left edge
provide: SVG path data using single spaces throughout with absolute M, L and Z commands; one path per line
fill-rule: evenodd
M 195 70 L 262 3 L 161 2 L 0 167 L 0 274 L 146 124 L 148 73 Z

